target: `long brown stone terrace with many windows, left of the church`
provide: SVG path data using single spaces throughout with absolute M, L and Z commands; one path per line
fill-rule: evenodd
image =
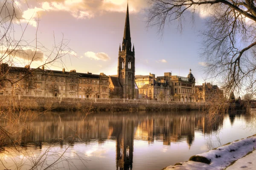
M 32 95 L 58 96 L 79 98 L 109 98 L 108 76 L 101 73 L 77 73 L 76 70 L 66 72 L 25 67 L 7 67 L 7 78 L 10 81 L 1 81 L 0 95 Z M 21 80 L 20 80 L 21 79 Z M 20 81 L 18 81 L 20 80 Z

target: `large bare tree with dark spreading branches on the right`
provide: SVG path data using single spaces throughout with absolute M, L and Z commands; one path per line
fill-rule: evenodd
M 149 0 L 148 26 L 161 32 L 166 24 L 204 12 L 206 17 L 201 55 L 206 75 L 224 90 L 256 92 L 256 2 L 253 0 Z

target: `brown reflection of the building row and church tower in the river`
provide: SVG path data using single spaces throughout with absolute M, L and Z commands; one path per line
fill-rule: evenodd
M 195 132 L 215 133 L 224 124 L 224 118 L 212 121 L 198 112 L 118 112 L 92 113 L 82 121 L 84 113 L 47 113 L 29 122 L 27 130 L 14 135 L 14 140 L 21 140 L 21 145 L 33 144 L 42 148 L 55 139 L 56 145 L 63 147 L 77 135 L 76 144 L 105 144 L 116 141 L 116 170 L 131 170 L 134 158 L 134 140 L 147 141 L 148 144 L 161 142 L 170 146 L 172 143 L 186 142 L 193 145 Z M 233 124 L 236 115 L 229 115 Z M 28 133 L 28 129 L 30 130 Z M 30 146 L 30 145 L 29 145 Z

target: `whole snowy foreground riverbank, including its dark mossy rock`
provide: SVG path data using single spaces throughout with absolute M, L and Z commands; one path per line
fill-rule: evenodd
M 163 170 L 223 170 L 240 169 L 256 165 L 256 135 L 233 141 L 208 152 L 189 158 L 189 161 L 179 162 L 163 168 Z M 251 155 L 252 154 L 252 155 Z M 250 160 L 247 160 L 247 158 Z M 254 158 L 254 159 L 253 159 Z

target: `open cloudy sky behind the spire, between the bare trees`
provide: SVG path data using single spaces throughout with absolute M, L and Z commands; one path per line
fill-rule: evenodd
M 3 6 L 3 2 L 0 0 L 0 5 Z M 65 67 L 66 71 L 76 69 L 76 72 L 117 74 L 127 0 L 17 0 L 15 5 L 20 9 L 16 13 L 22 18 L 20 24 L 23 28 L 18 29 L 17 24 L 17 35 L 25 30 L 22 36 L 24 40 L 34 46 L 37 42 L 38 46 L 49 49 L 38 50 L 38 58 L 46 58 L 62 38 L 68 43 L 65 49 L 67 55 L 62 57 L 63 63 L 49 65 L 50 69 L 61 70 Z M 147 0 L 129 0 L 135 74 L 162 76 L 164 72 L 172 72 L 172 75 L 186 77 L 189 69 L 192 69 L 196 84 L 202 84 L 204 61 L 199 53 L 204 14 L 198 12 L 193 22 L 187 14 L 182 32 L 178 24 L 172 22 L 166 25 L 161 36 L 157 27 L 147 27 L 147 8 Z M 41 64 L 39 60 L 32 67 Z

